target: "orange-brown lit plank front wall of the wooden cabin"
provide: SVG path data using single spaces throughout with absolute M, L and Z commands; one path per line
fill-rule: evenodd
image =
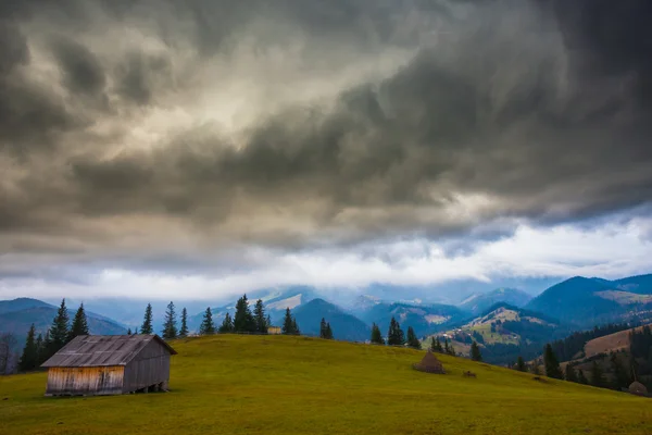
M 123 390 L 124 368 L 50 368 L 47 396 L 115 395 Z

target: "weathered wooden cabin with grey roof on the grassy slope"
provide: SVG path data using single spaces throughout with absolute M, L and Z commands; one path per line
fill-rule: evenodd
M 176 353 L 158 335 L 80 335 L 41 365 L 46 396 L 165 391 Z

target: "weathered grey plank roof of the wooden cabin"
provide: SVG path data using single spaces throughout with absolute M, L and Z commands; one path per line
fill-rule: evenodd
M 41 366 L 126 365 L 152 340 L 166 348 L 171 355 L 177 355 L 158 335 L 79 335 Z

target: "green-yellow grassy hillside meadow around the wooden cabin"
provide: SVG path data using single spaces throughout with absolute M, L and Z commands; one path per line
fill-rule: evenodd
M 176 341 L 171 393 L 43 397 L 0 378 L 5 434 L 651 434 L 652 400 L 442 356 L 285 336 Z M 472 370 L 477 378 L 462 376 Z

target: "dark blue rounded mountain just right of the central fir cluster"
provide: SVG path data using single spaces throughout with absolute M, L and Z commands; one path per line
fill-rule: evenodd
M 293 314 L 304 335 L 318 336 L 319 323 L 324 318 L 330 323 L 335 339 L 364 341 L 371 336 L 371 328 L 366 323 L 324 299 L 313 299 L 297 308 Z

